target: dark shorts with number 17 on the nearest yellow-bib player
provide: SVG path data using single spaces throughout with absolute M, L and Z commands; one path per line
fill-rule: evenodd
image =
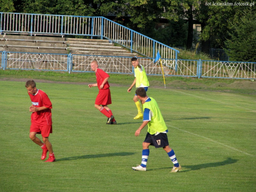
M 166 133 L 159 133 L 157 135 L 151 135 L 150 133 L 147 132 L 144 142 L 150 143 L 150 145 L 153 145 L 156 148 L 160 148 L 160 147 L 169 145 Z

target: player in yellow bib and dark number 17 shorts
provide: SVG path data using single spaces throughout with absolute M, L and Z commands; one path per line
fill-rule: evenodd
M 140 135 L 141 130 L 148 125 L 146 138 L 142 143 L 142 160 L 141 164 L 132 167 L 133 170 L 146 170 L 147 158 L 150 155 L 150 145 L 155 146 L 156 148 L 162 147 L 163 150 L 167 153 L 170 160 L 172 160 L 174 167 L 171 170 L 171 173 L 180 172 L 181 165 L 178 163 L 174 150 L 170 148 L 168 138 L 167 138 L 167 126 L 163 120 L 163 116 L 159 110 L 158 104 L 155 99 L 148 97 L 146 91 L 143 88 L 138 88 L 136 94 L 143 104 L 143 122 L 140 125 L 139 129 L 136 130 L 135 136 Z

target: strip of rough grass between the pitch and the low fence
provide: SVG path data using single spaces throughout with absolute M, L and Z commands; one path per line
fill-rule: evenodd
M 37 81 L 58 81 L 68 83 L 95 82 L 94 73 L 67 73 L 53 71 L 0 70 L 0 80 L 36 79 Z M 110 83 L 131 86 L 134 75 L 111 74 Z M 161 75 L 149 75 L 151 87 L 164 88 Z M 221 91 L 244 94 L 256 94 L 256 81 L 245 79 L 192 78 L 165 76 L 166 88 L 201 91 Z

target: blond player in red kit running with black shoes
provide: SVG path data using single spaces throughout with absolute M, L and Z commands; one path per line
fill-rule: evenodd
M 108 82 L 109 75 L 103 70 L 98 68 L 98 62 L 96 60 L 91 62 L 92 71 L 95 72 L 97 83 L 89 84 L 88 87 L 98 87 L 99 93 L 95 99 L 95 108 L 102 114 L 108 117 L 106 124 L 117 124 L 112 114 L 112 111 L 108 108 L 108 104 L 111 104 L 110 85 Z

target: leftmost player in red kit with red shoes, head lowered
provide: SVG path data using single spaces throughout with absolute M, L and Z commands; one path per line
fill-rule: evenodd
M 45 162 L 55 161 L 52 144 L 49 141 L 49 135 L 52 133 L 52 103 L 45 92 L 36 89 L 34 80 L 28 80 L 25 84 L 30 96 L 32 105 L 29 108 L 31 114 L 30 139 L 42 148 L 41 160 L 44 160 L 49 151 L 49 158 Z M 42 141 L 36 137 L 36 134 L 42 135 Z

